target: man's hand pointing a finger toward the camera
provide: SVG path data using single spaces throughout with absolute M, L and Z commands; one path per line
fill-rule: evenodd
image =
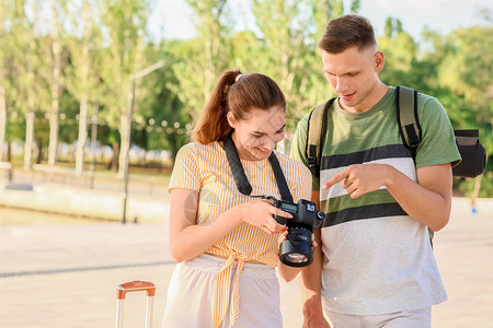
M 387 164 L 349 165 L 323 184 L 322 188 L 329 189 L 344 180 L 342 187 L 346 189 L 351 198 L 356 199 L 383 186 L 391 169 L 393 167 Z

